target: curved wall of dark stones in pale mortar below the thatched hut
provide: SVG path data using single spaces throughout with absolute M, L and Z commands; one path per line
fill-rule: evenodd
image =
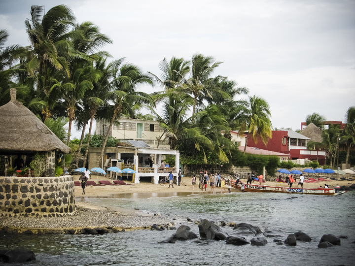
M 75 213 L 74 180 L 0 177 L 0 216 L 59 217 Z

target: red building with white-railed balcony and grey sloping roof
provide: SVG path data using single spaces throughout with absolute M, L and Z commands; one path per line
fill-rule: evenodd
M 267 145 L 260 138 L 255 143 L 252 137 L 249 136 L 247 146 L 289 154 L 291 160 L 308 159 L 310 161 L 318 161 L 320 165 L 324 165 L 325 151 L 307 150 L 307 141 L 309 140 L 311 140 L 309 137 L 292 130 L 278 130 L 272 132 L 272 138 L 269 138 Z

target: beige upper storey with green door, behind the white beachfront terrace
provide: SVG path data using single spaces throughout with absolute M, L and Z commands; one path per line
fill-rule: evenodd
M 163 129 L 159 122 L 152 120 L 140 120 L 131 118 L 119 119 L 118 126 L 112 126 L 110 135 L 120 139 L 122 142 L 128 140 L 142 140 L 151 148 L 169 148 L 168 138 L 165 139 Z M 96 121 L 96 133 L 103 134 L 107 132 L 108 125 Z

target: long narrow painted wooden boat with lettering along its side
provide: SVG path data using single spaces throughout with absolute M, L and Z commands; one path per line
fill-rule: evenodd
M 323 188 L 288 188 L 288 187 L 272 187 L 272 186 L 260 186 L 254 184 L 244 184 L 245 192 L 271 192 L 271 193 L 289 193 L 289 194 L 310 194 L 310 195 L 327 195 L 337 196 L 347 191 L 335 191 L 335 189 L 323 189 Z M 232 184 L 232 187 L 237 190 L 242 190 L 241 185 Z

